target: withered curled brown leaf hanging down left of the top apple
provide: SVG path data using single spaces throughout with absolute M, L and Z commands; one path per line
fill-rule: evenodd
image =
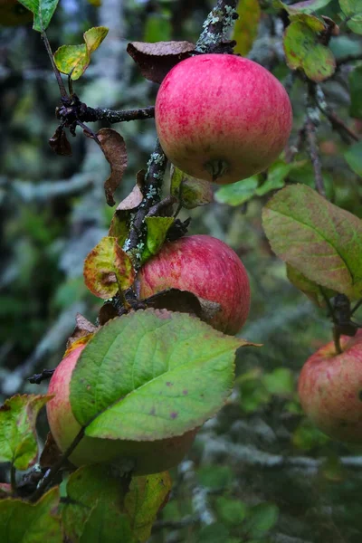
M 100 129 L 97 132 L 100 148 L 110 163 L 110 177 L 104 184 L 108 205 L 115 205 L 113 195 L 122 180 L 127 167 L 126 143 L 122 136 L 113 129 Z

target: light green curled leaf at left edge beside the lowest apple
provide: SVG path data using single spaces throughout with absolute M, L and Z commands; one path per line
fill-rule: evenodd
M 36 417 L 51 395 L 14 395 L 0 407 L 0 462 L 27 470 L 37 459 Z

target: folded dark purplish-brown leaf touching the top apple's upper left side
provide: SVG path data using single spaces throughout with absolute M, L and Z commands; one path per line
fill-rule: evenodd
M 193 51 L 195 45 L 189 42 L 131 42 L 127 46 L 143 77 L 154 83 L 160 83 L 171 68 Z

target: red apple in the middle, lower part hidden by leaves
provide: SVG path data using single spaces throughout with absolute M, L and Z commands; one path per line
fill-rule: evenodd
M 138 273 L 140 298 L 165 289 L 193 292 L 220 303 L 208 323 L 225 334 L 236 334 L 250 309 L 250 284 L 240 258 L 226 243 L 210 235 L 191 235 L 167 242 Z

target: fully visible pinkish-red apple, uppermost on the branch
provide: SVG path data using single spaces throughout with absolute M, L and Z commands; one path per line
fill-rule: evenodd
M 291 101 L 256 62 L 202 54 L 179 62 L 157 93 L 167 158 L 190 176 L 227 185 L 266 169 L 291 133 Z

